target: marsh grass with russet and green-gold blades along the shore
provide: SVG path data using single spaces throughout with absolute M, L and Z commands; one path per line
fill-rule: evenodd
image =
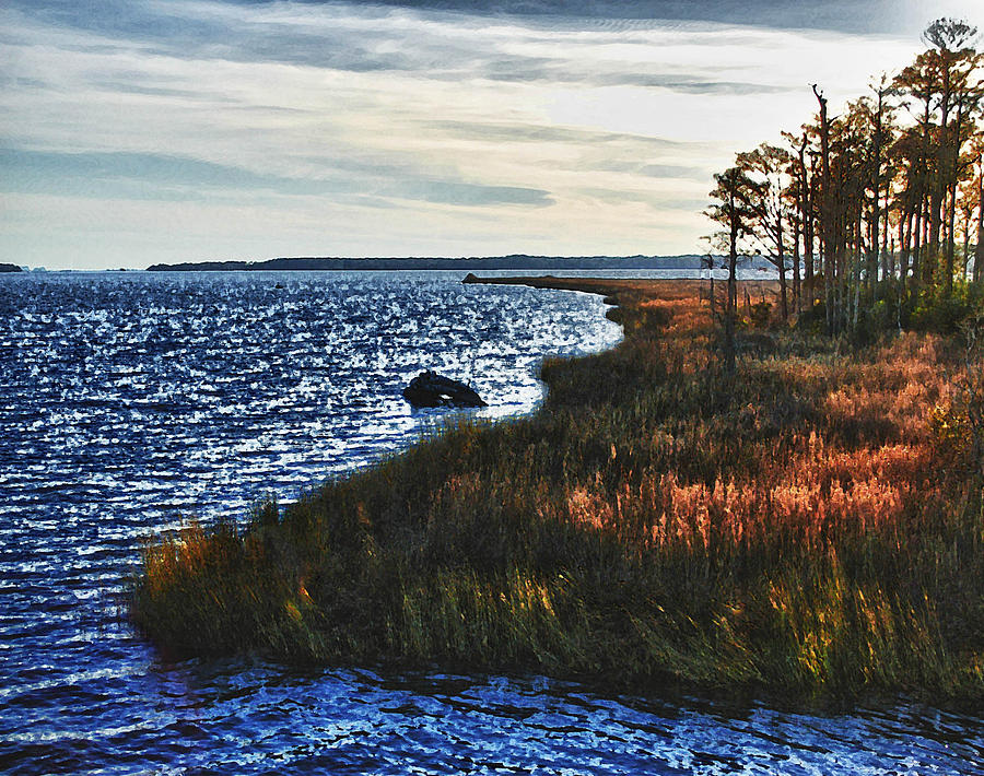
M 729 377 L 695 283 L 525 282 L 609 295 L 624 340 L 546 362 L 530 416 L 149 544 L 141 631 L 174 655 L 984 698 L 959 343 L 748 332 Z

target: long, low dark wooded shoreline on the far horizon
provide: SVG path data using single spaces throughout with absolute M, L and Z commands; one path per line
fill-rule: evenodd
M 150 272 L 235 270 L 698 270 L 706 256 L 512 256 L 471 258 L 279 258 L 266 261 L 187 261 L 152 264 Z M 714 266 L 724 266 L 714 257 Z M 764 262 L 763 262 L 764 263 Z

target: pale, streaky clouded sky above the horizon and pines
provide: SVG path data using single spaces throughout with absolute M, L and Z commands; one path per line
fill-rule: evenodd
M 698 252 L 713 174 L 976 2 L 4 0 L 0 262 Z

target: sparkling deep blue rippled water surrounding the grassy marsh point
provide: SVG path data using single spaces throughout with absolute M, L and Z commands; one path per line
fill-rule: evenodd
M 277 287 L 280 284 L 282 287 Z M 0 275 L 0 771 L 981 773 L 984 718 L 634 697 L 539 677 L 169 663 L 121 593 L 142 538 L 290 501 L 444 416 L 527 412 L 548 353 L 611 345 L 598 297 L 450 273 Z

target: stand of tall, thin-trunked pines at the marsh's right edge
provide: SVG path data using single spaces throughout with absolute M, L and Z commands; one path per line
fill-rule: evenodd
M 984 274 L 984 55 L 977 31 L 939 19 L 901 72 L 831 116 L 818 111 L 783 145 L 739 153 L 715 175 L 707 215 L 735 267 L 761 252 L 778 270 L 780 314 L 830 334 L 952 326 L 980 301 Z M 790 277 L 792 275 L 792 277 Z M 790 282 L 792 281 L 792 282 Z M 792 285 L 792 289 L 789 287 Z M 730 362 L 733 344 L 726 349 Z

